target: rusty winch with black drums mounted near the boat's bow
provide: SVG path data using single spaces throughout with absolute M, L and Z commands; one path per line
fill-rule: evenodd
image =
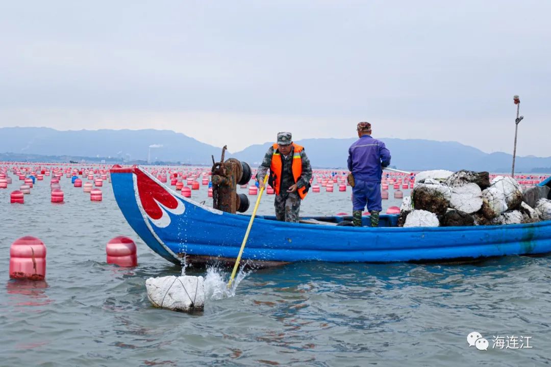
M 237 185 L 244 185 L 251 179 L 251 167 L 245 162 L 229 158 L 224 162 L 227 147 L 222 148 L 220 162 L 212 156 L 212 199 L 214 209 L 228 213 L 245 212 L 249 209 L 249 198 L 237 194 Z

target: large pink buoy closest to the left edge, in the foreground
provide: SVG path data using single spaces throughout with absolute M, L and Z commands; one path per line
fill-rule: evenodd
M 25 236 L 9 248 L 9 277 L 44 280 L 46 277 L 46 246 L 38 238 Z

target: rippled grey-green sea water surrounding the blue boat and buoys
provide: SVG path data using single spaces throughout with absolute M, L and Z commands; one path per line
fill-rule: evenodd
M 62 178 L 65 203 L 55 205 L 45 177 L 24 205 L 15 205 L 9 193 L 20 182 L 12 179 L 0 190 L 0 366 L 551 363 L 547 256 L 455 266 L 292 264 L 246 275 L 233 297 L 207 299 L 203 313 L 176 313 L 150 305 L 145 280 L 180 269 L 132 231 L 110 184 L 102 188 L 104 201 L 91 202 Z M 212 202 L 206 186 L 192 199 Z M 383 201 L 384 209 L 400 201 Z M 303 215 L 340 211 L 351 211 L 350 188 L 310 193 L 301 209 Z M 273 196 L 262 198 L 259 213 L 273 213 Z M 45 282 L 9 280 L 9 246 L 23 235 L 47 246 Z M 105 263 L 105 244 L 116 235 L 136 241 L 136 268 Z M 229 276 L 226 269 L 187 273 L 207 271 L 210 287 Z M 468 346 L 472 331 L 488 339 L 488 350 Z M 495 336 L 530 337 L 532 348 L 493 348 Z

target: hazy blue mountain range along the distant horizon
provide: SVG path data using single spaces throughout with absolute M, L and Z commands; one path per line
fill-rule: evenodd
M 512 156 L 506 153 L 487 154 L 472 146 L 455 141 L 422 139 L 386 139 L 392 155 L 392 166 L 406 171 L 425 169 L 471 169 L 473 171 L 509 172 Z M 350 139 L 304 139 L 296 141 L 305 147 L 312 166 L 345 168 Z M 231 141 L 228 141 L 231 143 Z M 272 142 L 255 144 L 231 153 L 226 157 L 257 166 Z M 0 128 L 0 160 L 14 157 L 61 157 L 62 160 L 106 162 L 181 162 L 186 164 L 211 165 L 220 159 L 220 147 L 201 143 L 185 134 L 170 130 L 71 130 L 58 131 L 50 128 Z M 29 158 L 30 159 L 30 158 Z M 518 157 L 515 172 L 550 172 L 551 157 Z

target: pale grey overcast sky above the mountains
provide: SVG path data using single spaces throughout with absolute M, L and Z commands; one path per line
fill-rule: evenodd
M 551 1 L 4 1 L 0 127 L 459 141 L 551 156 Z M 162 144 L 152 141 L 152 144 Z M 1 151 L 0 136 L 0 151 Z

